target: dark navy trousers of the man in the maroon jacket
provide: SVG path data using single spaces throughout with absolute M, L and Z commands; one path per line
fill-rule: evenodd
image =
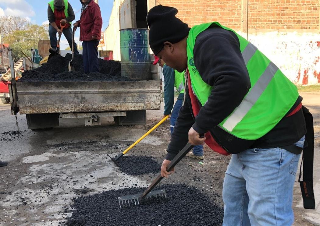
M 99 72 L 98 40 L 82 42 L 84 73 Z

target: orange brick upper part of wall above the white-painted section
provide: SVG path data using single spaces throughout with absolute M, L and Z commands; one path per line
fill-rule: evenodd
M 190 27 L 219 21 L 235 30 L 246 31 L 248 9 L 249 31 L 319 31 L 319 0 L 156 0 L 156 3 L 177 8 L 177 16 Z

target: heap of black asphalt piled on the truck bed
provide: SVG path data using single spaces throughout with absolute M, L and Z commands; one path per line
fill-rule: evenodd
M 74 72 L 69 72 L 68 64 L 71 54 L 66 57 L 53 56 L 43 66 L 25 71 L 19 82 L 80 82 L 80 81 L 135 81 L 121 76 L 121 63 L 115 60 L 99 61 L 99 73 L 84 73 L 82 55 L 75 55 L 72 63 Z

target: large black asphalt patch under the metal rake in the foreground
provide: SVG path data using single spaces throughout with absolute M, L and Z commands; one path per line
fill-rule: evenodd
M 165 189 L 166 199 L 155 199 L 151 203 L 142 202 L 137 206 L 119 207 L 119 196 L 142 193 L 145 189 L 125 188 L 76 198 L 71 206 L 72 216 L 61 224 L 67 226 L 222 225 L 223 208 L 196 187 L 185 184 L 156 187 Z M 65 211 L 69 211 L 68 208 Z

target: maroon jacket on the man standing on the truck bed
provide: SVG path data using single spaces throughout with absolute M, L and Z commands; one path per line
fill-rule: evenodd
M 90 1 L 87 8 L 81 14 L 79 26 L 80 41 L 91 41 L 92 35 L 97 36 L 98 40 L 100 40 L 102 17 L 97 3 Z

